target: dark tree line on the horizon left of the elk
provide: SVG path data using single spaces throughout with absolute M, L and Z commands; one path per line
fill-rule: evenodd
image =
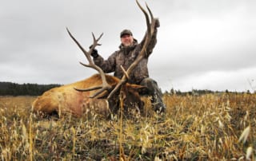
M 61 84 L 17 84 L 0 82 L 0 96 L 39 96 L 50 88 Z

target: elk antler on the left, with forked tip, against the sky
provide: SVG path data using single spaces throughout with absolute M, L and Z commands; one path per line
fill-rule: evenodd
M 90 67 L 92 69 L 96 69 L 98 71 L 98 73 L 100 74 L 100 76 L 102 77 L 102 85 L 100 86 L 95 86 L 92 88 L 85 88 L 85 89 L 78 89 L 78 88 L 74 88 L 80 92 L 86 92 L 86 91 L 92 91 L 95 89 L 100 89 L 98 90 L 98 92 L 95 92 L 93 96 L 90 96 L 90 98 L 94 98 L 95 96 L 98 96 L 100 93 L 102 93 L 105 90 L 109 90 L 111 88 L 110 84 L 108 84 L 106 82 L 106 76 L 105 73 L 102 71 L 102 69 L 100 67 L 98 67 L 98 65 L 94 64 L 94 61 L 92 61 L 90 54 L 93 52 L 94 48 L 96 47 L 96 45 L 100 45 L 98 44 L 99 39 L 102 37 L 103 33 L 98 37 L 98 39 L 96 39 L 94 37 L 94 33 L 92 33 L 93 37 L 94 37 L 94 44 L 91 46 L 89 52 L 86 52 L 85 49 L 82 48 L 82 45 L 79 44 L 79 42 L 73 37 L 73 35 L 70 33 L 70 30 L 68 28 L 66 28 L 67 32 L 70 34 L 70 37 L 74 40 L 74 42 L 78 45 L 78 47 L 82 50 L 82 52 L 84 53 L 84 55 L 86 56 L 87 60 L 89 61 L 89 65 L 85 65 L 82 62 L 80 62 L 81 65 L 84 65 L 86 67 Z

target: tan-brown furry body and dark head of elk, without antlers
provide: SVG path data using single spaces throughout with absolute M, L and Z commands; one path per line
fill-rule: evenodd
M 106 75 L 106 81 L 114 87 L 120 80 L 116 77 Z M 106 96 L 108 92 L 102 92 L 98 98 L 90 98 L 96 90 L 78 92 L 74 89 L 90 88 L 99 84 L 102 84 L 102 78 L 100 75 L 95 74 L 83 81 L 66 84 L 58 88 L 52 88 L 34 100 L 32 109 L 34 112 L 40 112 L 47 115 L 57 112 L 58 116 L 66 113 L 71 113 L 74 116 L 86 116 L 92 113 L 109 116 L 111 112 L 117 112 L 119 100 L 118 94 L 107 101 Z M 123 93 L 125 108 L 136 106 L 136 108 L 142 110 L 143 102 L 137 91 L 137 89 L 142 88 L 142 86 L 136 84 L 123 85 L 121 92 Z

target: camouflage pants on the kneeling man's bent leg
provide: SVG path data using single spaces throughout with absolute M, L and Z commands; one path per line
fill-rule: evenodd
M 166 110 L 166 105 L 163 104 L 162 92 L 161 92 L 160 88 L 158 88 L 158 83 L 151 78 L 145 78 L 141 81 L 140 85 L 148 88 L 148 92 L 143 93 L 143 94 L 152 96 L 151 104 L 152 104 L 152 108 L 154 109 L 154 111 L 155 112 L 164 112 Z

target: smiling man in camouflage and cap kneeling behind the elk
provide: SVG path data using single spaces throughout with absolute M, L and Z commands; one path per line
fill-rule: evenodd
M 154 46 L 157 43 L 157 28 L 159 27 L 159 21 L 156 21 L 155 32 L 146 49 L 147 57 L 144 57 L 142 61 L 138 63 L 134 71 L 130 73 L 130 79 L 128 82 L 130 84 L 140 84 L 148 88 L 148 95 L 152 96 L 151 104 L 156 112 L 164 112 L 166 110 L 165 104 L 162 102 L 162 92 L 158 88 L 158 84 L 153 79 L 149 78 L 149 72 L 147 68 L 148 58 L 150 53 L 152 53 Z M 124 69 L 128 69 L 129 66 L 134 62 L 138 53 L 142 49 L 142 45 L 145 40 L 142 40 L 140 44 L 133 37 L 133 33 L 129 29 L 124 29 L 120 33 L 121 45 L 119 45 L 119 50 L 115 51 L 107 60 L 104 60 L 96 49 L 92 52 L 91 56 L 94 57 L 94 63 L 98 65 L 104 73 L 114 72 L 114 77 L 122 78 L 123 72 L 121 65 Z

